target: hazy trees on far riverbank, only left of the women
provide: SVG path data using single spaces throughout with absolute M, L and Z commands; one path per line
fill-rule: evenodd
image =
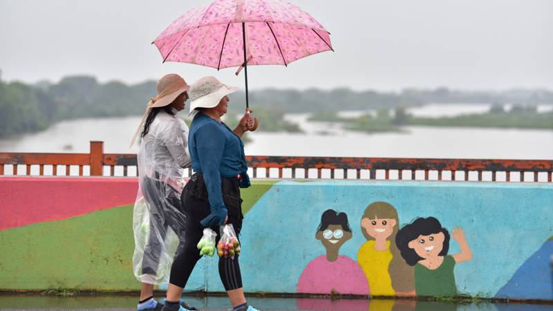
M 46 129 L 60 120 L 140 115 L 156 84 L 99 84 L 93 77 L 67 77 L 35 86 L 0 81 L 0 137 Z

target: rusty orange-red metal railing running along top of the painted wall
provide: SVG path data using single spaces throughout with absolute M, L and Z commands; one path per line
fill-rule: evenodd
M 303 171 L 303 177 L 335 178 L 341 171 L 343 178 L 353 179 L 397 179 L 397 180 L 469 180 L 469 174 L 478 181 L 499 181 L 498 175 L 509 182 L 512 176 L 519 174 L 521 181 L 538 181 L 541 174 L 544 182 L 552 182 L 553 160 L 471 160 L 471 159 L 415 159 L 415 158 L 328 158 L 328 157 L 282 157 L 282 156 L 248 156 L 247 162 L 253 178 L 274 177 L 297 178 Z M 65 167 L 65 175 L 70 175 L 71 166 L 78 167 L 78 176 L 84 176 L 84 169 L 89 169 L 90 176 L 115 176 L 115 167 L 122 167 L 121 176 L 129 176 L 129 167 L 136 167 L 135 154 L 104 153 L 103 142 L 91 142 L 90 153 L 0 153 L 0 175 L 4 167 L 12 165 L 14 175 L 30 175 L 31 167 L 38 166 L 38 173 L 43 176 L 44 167 Z M 25 172 L 21 166 L 25 167 Z M 105 171 L 104 171 L 105 169 Z M 108 171 L 108 172 L 106 172 Z M 265 171 L 265 174 L 260 172 Z M 310 174 L 315 171 L 315 174 Z M 287 174 L 285 174 L 285 172 Z M 464 172 L 464 173 L 458 173 Z M 188 174 L 191 173 L 189 170 Z M 288 174 L 289 173 L 289 174 Z M 380 174 L 379 174 L 380 173 Z M 395 177 L 393 177 L 395 173 Z M 416 174 L 422 176 L 416 178 Z M 490 176 L 488 180 L 484 174 Z M 75 174 L 74 174 L 75 175 Z M 285 176 L 286 175 L 286 176 Z M 365 175 L 365 178 L 362 178 Z M 378 178 L 380 175 L 380 178 Z M 433 178 L 431 178 L 433 175 Z M 461 177 L 458 177 L 461 175 Z M 543 175 L 546 175 L 543 176 Z M 529 177 L 528 177 L 529 176 Z M 528 178 L 527 178 L 528 177 Z M 545 177 L 545 178 L 544 178 Z

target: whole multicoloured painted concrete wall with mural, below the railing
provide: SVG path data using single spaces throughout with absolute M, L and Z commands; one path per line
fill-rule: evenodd
M 0 290 L 137 290 L 136 189 L 0 178 Z M 257 180 L 243 198 L 246 292 L 553 299 L 551 185 Z M 186 290 L 224 290 L 216 258 Z

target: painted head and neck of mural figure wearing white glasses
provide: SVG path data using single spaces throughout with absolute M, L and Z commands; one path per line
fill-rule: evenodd
M 321 241 L 326 249 L 328 261 L 336 261 L 341 245 L 352 237 L 346 214 L 329 209 L 321 217 L 321 225 L 315 238 Z

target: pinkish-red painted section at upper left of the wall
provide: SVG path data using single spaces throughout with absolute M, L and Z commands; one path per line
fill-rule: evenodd
M 0 177 L 0 230 L 131 205 L 138 178 Z

